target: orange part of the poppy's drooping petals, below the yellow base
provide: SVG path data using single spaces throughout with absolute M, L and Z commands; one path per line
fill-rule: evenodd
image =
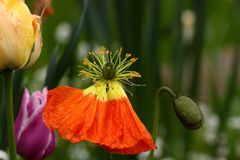
M 58 87 L 49 91 L 43 118 L 72 143 L 88 140 L 119 154 L 156 148 L 127 97 L 101 101 L 79 89 Z

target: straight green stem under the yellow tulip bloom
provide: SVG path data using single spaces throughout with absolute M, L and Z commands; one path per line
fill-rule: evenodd
M 9 143 L 9 155 L 11 160 L 16 160 L 16 143 L 14 134 L 14 118 L 13 118 L 13 83 L 12 70 L 3 71 L 5 93 L 6 93 L 6 115 L 7 115 L 7 132 Z

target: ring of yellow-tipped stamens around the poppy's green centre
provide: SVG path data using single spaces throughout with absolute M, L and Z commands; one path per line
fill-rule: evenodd
M 83 60 L 82 70 L 79 72 L 80 75 L 86 78 L 91 78 L 93 81 L 104 80 L 104 81 L 120 81 L 128 85 L 136 85 L 130 81 L 134 77 L 141 77 L 136 71 L 128 71 L 131 65 L 137 61 L 137 58 L 130 58 L 131 54 L 127 53 L 122 59 L 122 49 L 112 53 L 105 48 L 100 48 L 95 52 L 89 52 L 92 61 L 88 58 Z M 103 75 L 104 66 L 107 63 L 113 64 L 114 77 L 112 79 L 106 79 Z

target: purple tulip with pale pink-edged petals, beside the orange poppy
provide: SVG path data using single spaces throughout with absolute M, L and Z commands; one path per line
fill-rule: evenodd
M 15 121 L 17 152 L 29 160 L 41 160 L 55 149 L 54 132 L 48 129 L 42 118 L 42 111 L 47 102 L 47 88 L 42 93 L 32 96 L 25 88 L 21 108 Z

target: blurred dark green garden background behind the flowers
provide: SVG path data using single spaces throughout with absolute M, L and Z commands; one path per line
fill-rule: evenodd
M 150 132 L 160 86 L 193 98 L 205 117 L 201 129 L 186 130 L 174 115 L 171 99 L 162 95 L 156 159 L 240 159 L 239 0 L 53 0 L 52 6 L 54 14 L 43 19 L 38 62 L 15 72 L 15 115 L 23 87 L 31 92 L 43 86 L 86 88 L 90 81 L 80 79 L 78 65 L 87 52 L 122 47 L 139 57 L 132 68 L 142 78 L 135 82 L 146 86 L 128 87 L 133 93 L 128 96 Z M 6 118 L 0 88 L 0 117 Z M 1 131 L 5 125 L 0 122 Z M 0 138 L 5 149 L 6 135 L 1 132 Z M 146 157 L 113 155 L 114 160 Z M 89 142 L 73 145 L 58 138 L 48 159 L 106 160 L 107 153 Z

